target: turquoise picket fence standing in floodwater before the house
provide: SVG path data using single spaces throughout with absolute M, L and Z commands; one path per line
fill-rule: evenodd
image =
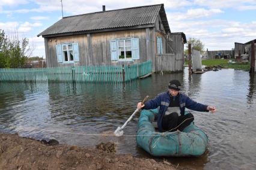
M 151 61 L 123 66 L 1 68 L 0 81 L 124 82 L 152 71 Z

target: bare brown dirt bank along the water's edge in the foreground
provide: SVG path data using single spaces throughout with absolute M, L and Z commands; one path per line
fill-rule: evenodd
M 0 169 L 176 169 L 162 160 L 0 133 Z

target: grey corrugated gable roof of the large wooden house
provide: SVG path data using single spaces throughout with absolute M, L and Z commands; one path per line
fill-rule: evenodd
M 121 28 L 134 29 L 136 26 L 153 27 L 157 14 L 160 14 L 165 31 L 171 32 L 163 4 L 157 4 L 63 17 L 37 36 L 55 37 Z

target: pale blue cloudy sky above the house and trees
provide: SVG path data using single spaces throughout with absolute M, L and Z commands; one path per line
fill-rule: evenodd
M 63 16 L 164 4 L 171 32 L 198 38 L 205 50 L 231 50 L 234 42 L 256 39 L 256 0 L 62 0 Z M 0 0 L 0 29 L 28 38 L 32 56 L 45 57 L 44 38 L 37 35 L 62 18 L 59 0 Z M 185 45 L 186 47 L 186 45 Z

